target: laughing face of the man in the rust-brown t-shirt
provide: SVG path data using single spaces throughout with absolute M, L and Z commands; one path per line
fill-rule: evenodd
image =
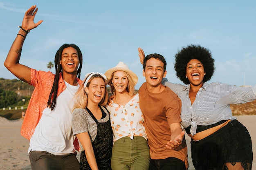
M 150 58 L 146 62 L 145 70 L 143 70 L 143 76 L 146 78 L 146 82 L 151 87 L 157 87 L 161 85 L 162 79 L 166 76 L 164 71 L 164 63 L 156 58 Z

